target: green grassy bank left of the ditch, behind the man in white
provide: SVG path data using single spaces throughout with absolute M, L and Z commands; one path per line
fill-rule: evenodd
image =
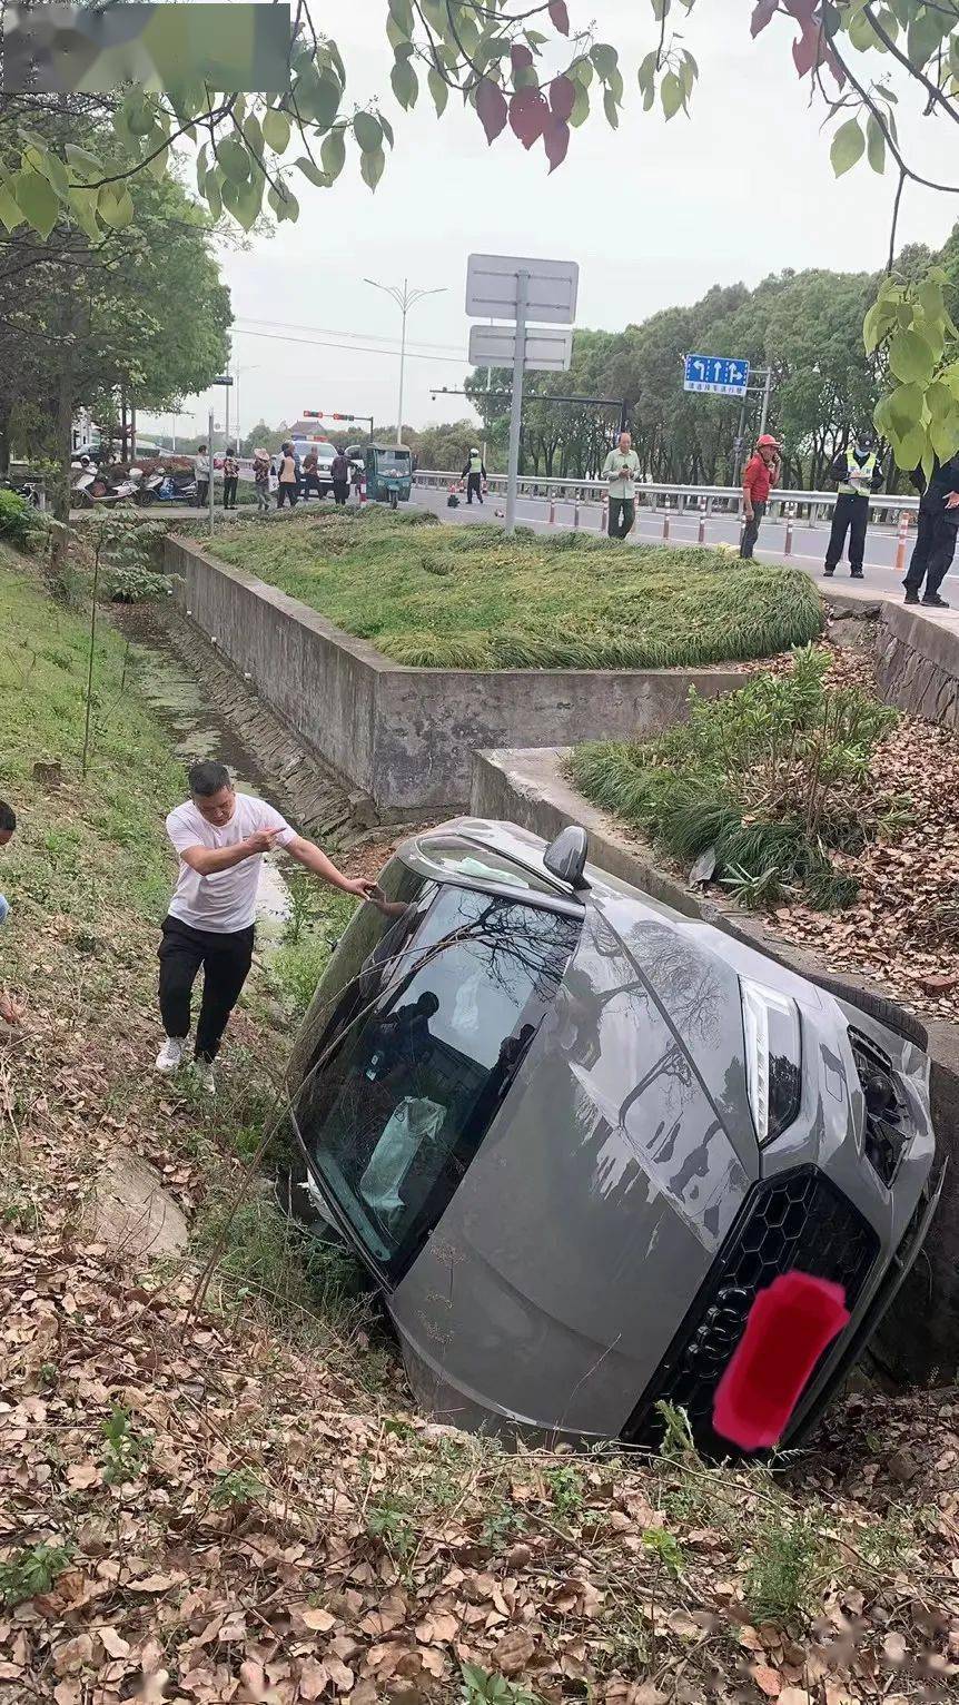
M 89 616 L 53 604 L 0 544 L 0 796 L 20 818 L 0 878 L 10 899 L 78 921 L 107 902 L 160 917 L 172 871 L 164 817 L 182 795 L 182 766 L 124 680 L 124 641 L 100 617 L 82 777 L 89 639 Z M 60 789 L 34 779 L 36 764 L 60 766 Z

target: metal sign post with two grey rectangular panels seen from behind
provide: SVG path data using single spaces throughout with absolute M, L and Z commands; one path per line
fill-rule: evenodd
M 484 327 L 491 344 L 506 343 L 504 353 L 513 356 L 513 397 L 509 407 L 509 464 L 506 469 L 506 537 L 516 529 L 516 484 L 520 476 L 520 431 L 523 425 L 523 373 L 528 368 L 566 372 L 572 360 L 572 332 L 569 338 L 552 338 L 537 332 L 528 336 L 526 326 L 547 322 L 572 326 L 579 290 L 576 261 L 526 261 L 504 254 L 470 254 L 467 268 L 467 314 L 485 321 L 509 321 L 513 338 L 504 339 L 506 327 Z M 470 355 L 475 365 L 491 365 L 491 350 L 480 348 L 484 338 L 474 326 Z M 511 350 L 509 350 L 511 346 Z

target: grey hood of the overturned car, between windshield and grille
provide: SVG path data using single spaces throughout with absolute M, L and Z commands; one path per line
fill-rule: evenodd
M 727 1129 L 736 975 L 654 912 L 637 941 L 635 900 L 617 905 L 589 902 L 521 1076 L 390 1298 L 417 1396 L 450 1422 L 617 1434 L 758 1175 L 755 1137 Z

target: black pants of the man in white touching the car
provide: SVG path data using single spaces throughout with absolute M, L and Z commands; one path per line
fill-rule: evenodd
M 189 1004 L 203 967 L 203 1001 L 196 1026 L 196 1057 L 215 1061 L 227 1020 L 240 999 L 254 957 L 254 926 L 233 934 L 192 929 L 179 917 L 164 919 L 160 958 L 160 1013 L 169 1037 L 189 1035 Z

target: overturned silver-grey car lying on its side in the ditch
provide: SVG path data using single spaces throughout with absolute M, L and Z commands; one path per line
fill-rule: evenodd
M 644 1444 L 668 1400 L 722 1451 L 756 1292 L 841 1284 L 794 1442 L 935 1209 L 928 1061 L 584 861 L 472 818 L 399 849 L 293 1050 L 310 1190 L 463 1427 Z

